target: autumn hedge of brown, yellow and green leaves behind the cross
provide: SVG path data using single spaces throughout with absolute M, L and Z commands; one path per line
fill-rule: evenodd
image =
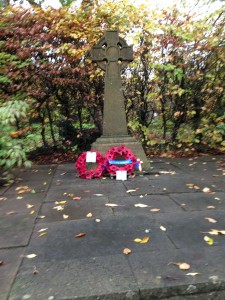
M 146 150 L 224 151 L 224 21 L 222 9 L 200 18 L 128 1 L 2 9 L 1 165 L 43 146 L 87 149 L 101 134 L 104 73 L 89 50 L 106 28 L 134 44 L 125 105 Z

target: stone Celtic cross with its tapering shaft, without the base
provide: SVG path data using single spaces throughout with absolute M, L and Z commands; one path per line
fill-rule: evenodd
M 127 136 L 120 72 L 133 60 L 133 47 L 128 46 L 116 30 L 108 30 L 99 43 L 92 47 L 91 58 L 106 72 L 103 136 Z

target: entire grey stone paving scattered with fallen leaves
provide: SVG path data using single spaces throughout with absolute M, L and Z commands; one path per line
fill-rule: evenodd
M 0 187 L 0 300 L 225 299 L 225 235 L 208 233 L 225 231 L 225 156 L 151 167 L 122 182 L 33 166 Z

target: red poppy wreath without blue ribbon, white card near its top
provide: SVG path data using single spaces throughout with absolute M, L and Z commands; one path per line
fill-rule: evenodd
M 90 151 L 89 151 L 90 152 Z M 97 151 L 91 151 L 96 152 L 96 163 L 97 167 L 95 169 L 88 170 L 86 168 L 86 155 L 87 152 L 83 152 L 77 159 L 75 166 L 77 168 L 77 172 L 81 178 L 84 179 L 92 179 L 92 178 L 100 178 L 102 176 L 102 173 L 105 170 L 105 157 L 97 152 Z

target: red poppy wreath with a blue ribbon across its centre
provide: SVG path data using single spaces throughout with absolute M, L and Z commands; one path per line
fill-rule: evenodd
M 117 156 L 123 156 L 125 158 L 125 165 L 123 167 L 114 163 L 114 159 Z M 121 164 L 122 162 L 123 161 L 121 161 Z M 127 171 L 127 174 L 131 174 L 134 171 L 136 163 L 137 158 L 134 156 L 133 152 L 124 145 L 112 147 L 106 153 L 106 169 L 112 175 L 115 175 L 116 171 Z

